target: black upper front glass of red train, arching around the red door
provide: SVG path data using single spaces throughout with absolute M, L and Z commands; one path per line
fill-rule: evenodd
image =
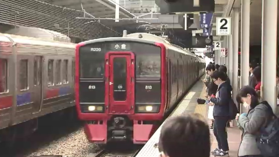
M 116 49 L 115 45 L 123 43 L 95 43 L 80 48 L 80 78 L 104 78 L 105 54 L 107 52 L 133 52 L 135 54 L 136 78 L 160 78 L 161 77 L 161 48 L 145 43 L 125 42 L 125 50 Z

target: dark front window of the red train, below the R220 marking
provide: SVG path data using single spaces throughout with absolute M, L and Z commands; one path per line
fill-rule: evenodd
M 80 57 L 80 78 L 104 78 L 105 53 L 82 52 Z

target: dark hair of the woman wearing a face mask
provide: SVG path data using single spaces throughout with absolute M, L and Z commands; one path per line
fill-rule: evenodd
M 246 85 L 246 86 L 242 87 L 237 93 L 236 100 L 238 103 L 243 103 L 241 101 L 241 97 L 246 98 L 247 94 L 251 95 L 250 107 L 251 107 L 251 109 L 254 109 L 259 104 L 259 100 L 258 100 L 259 96 L 257 95 L 257 92 L 255 91 L 255 89 L 252 88 L 251 86 Z

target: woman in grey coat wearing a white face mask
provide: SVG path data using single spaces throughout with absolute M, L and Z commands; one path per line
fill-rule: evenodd
M 237 94 L 237 102 L 243 103 L 243 106 L 249 110 L 248 113 L 242 113 L 235 118 L 238 127 L 243 131 L 238 156 L 262 157 L 257 147 L 256 137 L 260 128 L 266 125 L 270 117 L 267 109 L 267 106 L 270 107 L 270 105 L 266 101 L 259 103 L 256 91 L 250 86 L 240 89 Z

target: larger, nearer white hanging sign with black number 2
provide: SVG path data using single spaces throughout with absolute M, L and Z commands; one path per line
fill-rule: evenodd
M 231 17 L 216 18 L 216 35 L 231 35 Z

